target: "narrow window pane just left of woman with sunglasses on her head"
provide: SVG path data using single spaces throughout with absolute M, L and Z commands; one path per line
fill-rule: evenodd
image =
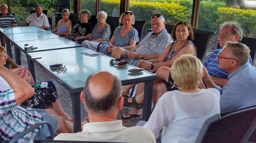
M 120 16 L 120 0 L 101 0 L 101 11 L 105 11 L 108 16 Z

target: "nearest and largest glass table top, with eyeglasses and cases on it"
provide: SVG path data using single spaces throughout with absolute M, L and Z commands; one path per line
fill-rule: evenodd
M 83 87 L 86 78 L 90 76 L 90 74 L 100 71 L 110 71 L 116 74 L 121 81 L 131 79 L 136 80 L 138 78 L 155 75 L 146 71 L 131 73 L 128 72 L 128 70 L 135 68 L 131 65 L 114 67 L 109 64 L 111 58 L 103 55 L 89 57 L 81 54 L 82 51 L 90 50 L 84 47 L 76 47 L 52 51 L 30 52 L 28 55 L 31 57 L 42 57 L 36 61 L 47 68 L 47 70 L 52 72 L 60 80 L 67 83 L 72 89 Z M 67 67 L 67 71 L 57 73 L 56 68 L 50 69 L 49 65 L 56 63 L 62 63 L 63 66 Z

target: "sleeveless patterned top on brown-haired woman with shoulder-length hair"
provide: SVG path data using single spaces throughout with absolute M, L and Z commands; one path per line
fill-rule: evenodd
M 193 45 L 194 48 L 196 49 L 196 46 L 194 45 L 194 43 L 190 40 L 187 40 L 186 43 L 184 43 L 177 51 L 174 52 L 173 49 L 174 49 L 174 46 L 176 43 L 177 43 L 177 41 L 172 42 L 170 50 L 169 50 L 168 54 L 166 55 L 165 62 L 170 62 L 170 60 L 172 60 L 172 58 L 174 58 L 181 51 L 181 49 L 183 49 L 188 44 Z M 196 53 L 194 54 L 194 56 L 196 56 Z

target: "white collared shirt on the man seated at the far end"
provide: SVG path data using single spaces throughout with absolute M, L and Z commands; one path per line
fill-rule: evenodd
M 32 13 L 28 18 L 26 19 L 26 22 L 29 24 L 29 26 L 49 26 L 48 18 L 45 14 L 41 14 L 39 17 L 36 16 L 36 13 Z

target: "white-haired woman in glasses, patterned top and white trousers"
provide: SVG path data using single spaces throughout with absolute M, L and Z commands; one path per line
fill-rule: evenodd
M 100 11 L 97 14 L 98 23 L 95 25 L 89 40 L 85 40 L 82 42 L 82 45 L 84 47 L 87 47 L 89 49 L 92 49 L 93 51 L 96 51 L 99 43 L 109 42 L 111 30 L 110 30 L 110 25 L 106 23 L 107 16 L 108 14 L 105 11 Z

